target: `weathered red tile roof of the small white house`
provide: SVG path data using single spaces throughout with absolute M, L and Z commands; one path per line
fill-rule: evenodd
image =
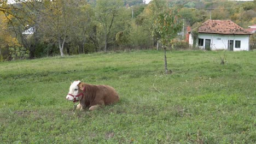
M 214 34 L 250 34 L 246 29 L 231 20 L 207 20 L 198 29 L 199 33 Z

